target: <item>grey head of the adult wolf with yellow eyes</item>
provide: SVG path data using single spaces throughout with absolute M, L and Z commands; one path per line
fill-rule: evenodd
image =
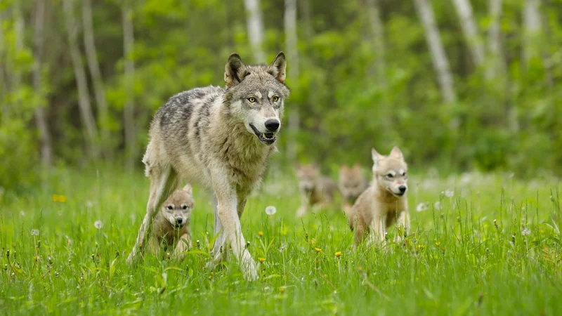
M 244 123 L 261 143 L 275 143 L 289 88 L 285 86 L 285 54 L 279 53 L 270 65 L 244 65 L 239 55 L 228 58 L 225 100 L 230 114 Z

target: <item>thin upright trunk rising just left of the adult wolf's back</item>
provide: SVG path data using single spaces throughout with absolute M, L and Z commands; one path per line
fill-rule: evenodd
M 135 105 L 133 82 L 135 77 L 135 64 L 133 62 L 133 45 L 135 42 L 133 29 L 133 12 L 129 6 L 122 8 L 123 20 L 123 54 L 125 58 L 125 107 L 123 111 L 123 126 L 125 130 L 126 167 L 133 169 L 136 154 L 135 135 Z

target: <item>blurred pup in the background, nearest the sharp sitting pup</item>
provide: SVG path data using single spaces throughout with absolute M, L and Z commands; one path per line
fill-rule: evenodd
M 361 174 L 359 164 L 353 165 L 353 168 L 344 164 L 339 167 L 338 187 L 344 197 L 344 213 L 348 216 L 348 220 L 351 220 L 351 208 L 359 195 L 367 188 L 367 180 Z

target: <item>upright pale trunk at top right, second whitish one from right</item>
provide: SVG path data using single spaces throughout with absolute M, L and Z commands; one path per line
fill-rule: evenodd
M 494 79 L 499 72 L 504 71 L 504 63 L 500 46 L 499 17 L 502 15 L 502 0 L 490 0 L 490 26 L 488 27 L 488 67 L 486 77 Z

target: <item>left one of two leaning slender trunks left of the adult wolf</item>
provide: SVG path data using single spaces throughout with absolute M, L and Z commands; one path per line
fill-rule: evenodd
M 74 68 L 74 79 L 78 88 L 78 105 L 80 116 L 84 129 L 86 129 L 87 145 L 91 158 L 98 156 L 98 128 L 96 119 L 93 117 L 93 111 L 90 103 L 88 91 L 88 82 L 86 80 L 86 71 L 82 63 L 81 53 L 78 46 L 78 32 L 76 21 L 74 20 L 74 9 L 72 8 L 73 0 L 63 0 L 63 11 L 65 15 L 65 27 L 68 36 L 68 49 L 72 60 L 72 68 Z

